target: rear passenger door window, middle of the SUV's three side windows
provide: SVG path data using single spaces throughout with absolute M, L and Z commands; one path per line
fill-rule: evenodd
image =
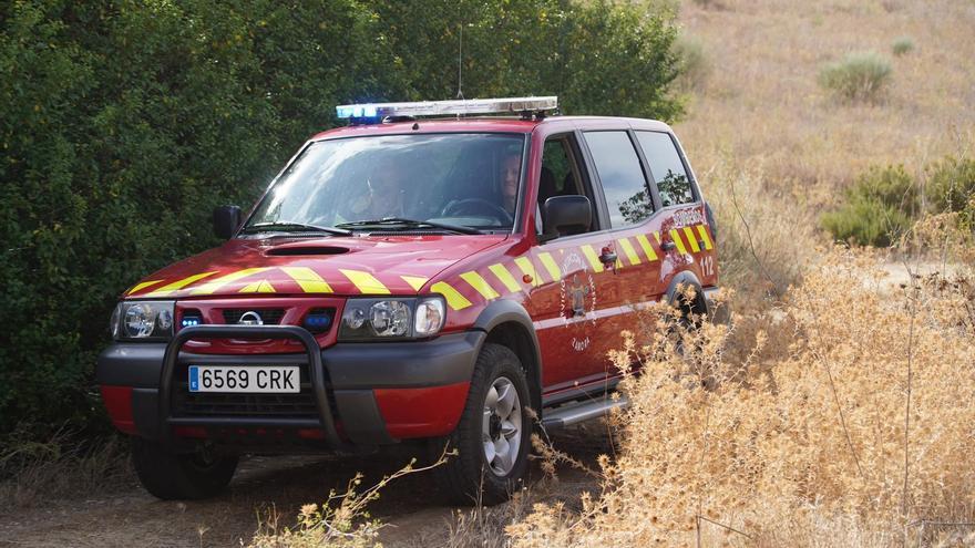
M 626 132 L 586 132 L 586 143 L 603 194 L 609 208 L 609 223 L 616 227 L 637 224 L 654 213 L 644 170 Z

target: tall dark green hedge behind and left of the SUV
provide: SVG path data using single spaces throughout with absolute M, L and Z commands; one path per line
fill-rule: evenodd
M 117 296 L 217 244 L 335 105 L 557 94 L 673 121 L 673 21 L 609 0 L 0 3 L 0 440 L 103 426 Z

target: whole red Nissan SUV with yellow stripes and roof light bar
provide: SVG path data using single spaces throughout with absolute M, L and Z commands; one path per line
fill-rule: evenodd
M 555 97 L 338 107 L 222 247 L 145 277 L 98 366 L 143 485 L 225 487 L 243 453 L 429 440 L 454 498 L 504 499 L 533 427 L 603 415 L 642 303 L 712 307 L 715 226 L 670 128 Z M 471 117 L 509 113 L 513 116 Z M 534 410 L 528 411 L 528 410 Z

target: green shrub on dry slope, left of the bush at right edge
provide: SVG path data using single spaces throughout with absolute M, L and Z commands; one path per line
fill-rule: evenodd
M 887 247 L 910 230 L 920 213 L 914 179 L 903 166 L 872 167 L 844 193 L 845 201 L 822 216 L 834 239 L 861 246 Z

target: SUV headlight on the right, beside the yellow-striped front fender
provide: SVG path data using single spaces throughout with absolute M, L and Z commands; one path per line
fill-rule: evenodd
M 444 322 L 441 297 L 349 299 L 342 312 L 339 339 L 413 339 L 432 337 Z

